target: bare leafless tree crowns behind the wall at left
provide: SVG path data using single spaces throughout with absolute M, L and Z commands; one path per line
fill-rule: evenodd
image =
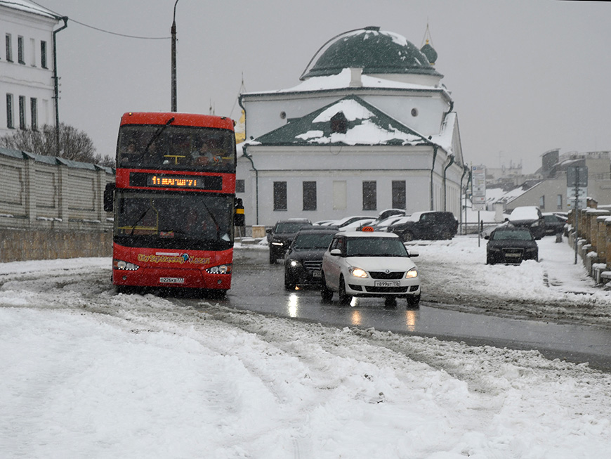
M 11 134 L 0 137 L 0 145 L 6 148 L 27 151 L 37 155 L 59 156 L 66 160 L 93 162 L 102 166 L 114 166 L 110 157 L 96 154 L 91 138 L 84 132 L 65 123 L 60 123 L 60 145 L 55 145 L 55 127 L 45 124 L 41 129 L 34 131 L 20 129 Z

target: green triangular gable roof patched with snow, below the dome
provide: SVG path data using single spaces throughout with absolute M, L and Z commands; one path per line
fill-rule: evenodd
M 292 119 L 252 143 L 276 146 L 432 144 L 357 96 L 346 96 L 304 117 Z

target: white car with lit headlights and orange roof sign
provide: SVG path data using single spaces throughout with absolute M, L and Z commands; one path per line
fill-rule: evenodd
M 322 299 L 329 302 L 337 292 L 342 304 L 352 297 L 381 297 L 388 307 L 397 298 L 418 307 L 420 277 L 410 258 L 417 256 L 394 233 L 337 233 L 322 257 Z

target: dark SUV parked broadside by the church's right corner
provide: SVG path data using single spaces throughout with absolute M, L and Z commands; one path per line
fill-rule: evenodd
M 414 239 L 452 239 L 458 231 L 458 221 L 452 212 L 414 212 L 388 226 L 389 233 L 407 242 Z

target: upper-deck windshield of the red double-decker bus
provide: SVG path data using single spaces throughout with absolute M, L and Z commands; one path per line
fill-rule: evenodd
M 235 137 L 228 129 L 126 124 L 119 129 L 118 167 L 235 172 Z

